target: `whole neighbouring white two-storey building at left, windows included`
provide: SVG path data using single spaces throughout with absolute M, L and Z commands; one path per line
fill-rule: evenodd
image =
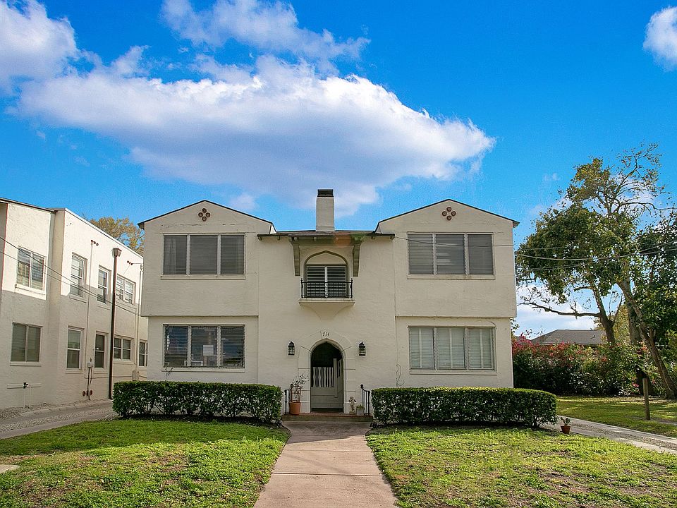
M 142 261 L 70 210 L 0 198 L 0 407 L 106 399 L 114 297 L 114 382 L 145 379 Z

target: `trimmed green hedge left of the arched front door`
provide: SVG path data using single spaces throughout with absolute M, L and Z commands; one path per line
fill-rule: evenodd
M 123 417 L 159 413 L 277 423 L 282 390 L 270 385 L 218 382 L 121 381 L 113 387 L 113 411 Z

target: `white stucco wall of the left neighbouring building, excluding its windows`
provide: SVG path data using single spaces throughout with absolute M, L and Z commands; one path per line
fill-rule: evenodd
M 0 209 L 1 210 L 1 209 Z M 111 329 L 112 249 L 122 249 L 118 274 L 135 282 L 135 303 L 116 301 L 116 337 L 131 339 L 130 360 L 114 360 L 114 382 L 130 380 L 134 370 L 140 378 L 146 369 L 138 368 L 138 344 L 147 339 L 147 319 L 140 317 L 142 257 L 104 234 L 69 210 L 54 212 L 8 203 L 6 213 L 6 255 L 0 301 L 0 347 L 6 351 L 8 368 L 0 369 L 1 406 L 23 406 L 28 382 L 32 404 L 65 404 L 83 401 L 87 389 L 87 362 L 94 358 L 94 336 L 106 335 L 104 368 L 92 369 L 92 399 L 108 397 L 109 342 Z M 13 244 L 13 245 L 11 245 Z M 44 290 L 16 284 L 17 249 L 27 248 L 44 255 L 47 268 Z M 83 297 L 70 294 L 72 253 L 86 260 Z M 132 263 L 132 264 L 130 264 Z M 111 272 L 106 303 L 97 301 L 99 266 Z M 13 323 L 42 327 L 39 362 L 10 362 Z M 68 329 L 80 329 L 82 341 L 80 368 L 66 368 Z

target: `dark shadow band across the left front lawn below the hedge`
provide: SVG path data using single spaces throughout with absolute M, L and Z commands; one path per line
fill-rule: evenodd
M 219 440 L 286 441 L 279 428 L 220 421 L 168 418 L 130 418 L 76 423 L 51 430 L 0 440 L 0 455 L 36 455 L 77 452 L 134 444 L 212 442 Z

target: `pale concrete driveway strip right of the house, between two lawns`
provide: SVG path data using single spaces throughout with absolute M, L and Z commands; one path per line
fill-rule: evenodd
M 607 439 L 632 444 L 638 448 L 649 449 L 654 452 L 677 454 L 677 438 L 659 434 L 650 434 L 616 425 L 591 422 L 571 418 L 571 433 L 591 437 L 606 437 Z M 544 428 L 561 430 L 559 425 L 544 425 Z

